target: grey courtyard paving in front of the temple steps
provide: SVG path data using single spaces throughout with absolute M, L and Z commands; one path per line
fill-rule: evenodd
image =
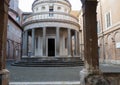
M 7 64 L 10 82 L 79 81 L 83 67 L 16 67 Z M 120 66 L 100 65 L 104 72 L 120 72 Z

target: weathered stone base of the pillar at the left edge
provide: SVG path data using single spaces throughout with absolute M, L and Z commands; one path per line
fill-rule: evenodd
M 7 69 L 0 71 L 0 85 L 9 85 L 9 71 Z

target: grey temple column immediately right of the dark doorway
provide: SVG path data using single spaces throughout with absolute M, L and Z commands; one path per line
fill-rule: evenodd
M 60 28 L 56 28 L 56 57 L 60 56 Z

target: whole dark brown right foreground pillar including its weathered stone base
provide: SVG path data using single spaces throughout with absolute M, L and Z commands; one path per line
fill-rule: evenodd
M 85 69 L 80 72 L 81 85 L 102 85 L 106 81 L 99 71 L 97 39 L 97 0 L 81 0 L 83 9 L 84 61 Z

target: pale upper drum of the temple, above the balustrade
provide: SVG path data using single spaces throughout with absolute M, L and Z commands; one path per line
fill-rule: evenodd
M 71 4 L 68 0 L 35 0 L 32 4 L 32 10 L 34 13 L 49 12 L 50 6 L 54 8 L 54 12 L 66 12 L 71 11 Z

